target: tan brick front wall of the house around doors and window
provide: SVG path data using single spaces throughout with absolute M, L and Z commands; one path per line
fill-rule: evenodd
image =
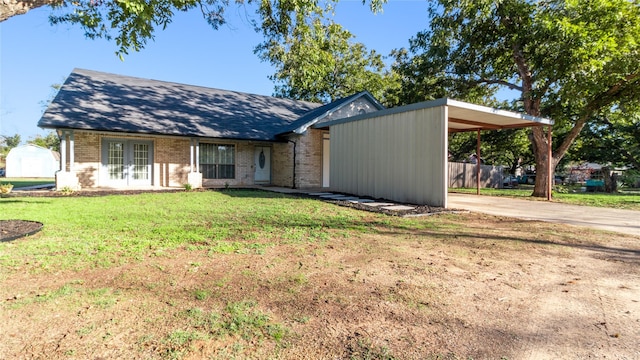
M 315 188 L 322 186 L 322 135 L 327 131 L 309 129 L 302 136 L 296 136 L 296 187 Z M 153 187 L 182 187 L 188 182 L 190 172 L 190 139 L 152 136 L 132 136 L 124 134 L 106 134 L 76 131 L 74 133 L 74 172 L 82 188 L 105 187 L 101 183 L 100 168 L 102 140 L 140 139 L 153 142 Z M 293 182 L 293 144 L 248 142 L 248 141 L 210 141 L 201 143 L 235 145 L 235 178 L 203 179 L 204 187 L 252 186 L 254 185 L 255 147 L 271 148 L 271 184 L 291 187 Z M 70 150 L 69 147 L 67 149 Z M 69 154 L 67 154 L 69 158 Z M 194 158 L 195 160 L 195 158 Z M 67 161 L 63 161 L 68 164 Z M 67 166 L 68 168 L 68 166 Z

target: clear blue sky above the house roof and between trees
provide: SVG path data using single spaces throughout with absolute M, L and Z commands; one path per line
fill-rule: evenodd
M 51 26 L 51 9 L 39 8 L 0 23 L 0 134 L 20 134 L 22 141 L 48 131 L 37 127 L 51 85 L 62 83 L 74 68 L 141 78 L 271 95 L 272 67 L 253 54 L 262 41 L 244 10 L 230 7 L 227 25 L 213 30 L 198 10 L 179 13 L 141 52 L 121 61 L 115 42 L 85 39 L 77 26 Z M 253 13 L 249 15 L 254 16 Z M 359 0 L 342 0 L 336 21 L 355 41 L 388 55 L 408 46 L 427 26 L 426 0 L 391 0 L 372 14 Z

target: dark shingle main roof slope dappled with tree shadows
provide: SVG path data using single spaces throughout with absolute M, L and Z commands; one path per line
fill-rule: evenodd
M 322 104 L 75 69 L 43 128 L 276 140 Z M 298 123 L 298 122 L 296 122 Z

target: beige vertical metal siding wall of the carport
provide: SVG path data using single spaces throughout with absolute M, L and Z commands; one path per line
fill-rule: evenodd
M 446 206 L 446 107 L 331 126 L 331 189 Z

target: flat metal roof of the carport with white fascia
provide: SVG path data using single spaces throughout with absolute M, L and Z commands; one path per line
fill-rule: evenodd
M 499 110 L 482 105 L 475 105 L 464 101 L 447 98 L 425 101 L 421 103 L 399 106 L 395 108 L 380 110 L 373 113 L 358 115 L 346 119 L 325 122 L 318 127 L 329 127 L 341 123 L 365 120 L 374 117 L 391 115 L 421 109 L 434 108 L 438 106 L 448 107 L 449 132 L 463 132 L 476 130 L 498 130 L 522 128 L 541 125 L 553 125 L 553 120 L 530 116 L 507 110 Z

